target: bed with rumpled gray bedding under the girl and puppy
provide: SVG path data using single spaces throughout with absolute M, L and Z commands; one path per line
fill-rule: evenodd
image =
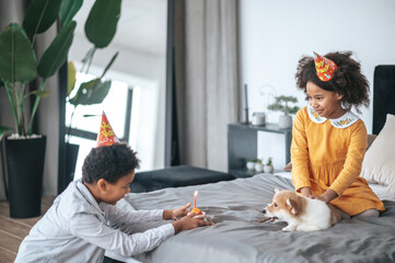
M 394 66 L 384 69 L 377 67 L 375 76 L 377 70 L 395 76 Z M 395 114 L 395 110 L 383 107 L 393 105 L 395 101 L 395 84 L 391 81 L 387 83 L 390 88 L 383 84 L 384 88 L 380 88 L 382 90 L 374 90 L 374 104 L 381 105 L 381 118 L 382 114 Z M 376 92 L 387 92 L 388 89 L 391 96 L 376 95 Z M 375 126 L 386 128 L 385 118 L 380 124 L 376 122 L 373 119 Z M 381 128 L 374 129 L 376 134 Z M 387 139 L 380 133 L 368 152 L 373 151 L 371 149 L 376 140 Z M 391 146 L 393 141 L 386 144 Z M 375 155 L 371 153 L 372 157 Z M 387 159 L 387 162 L 394 162 L 394 159 Z M 372 165 L 376 163 L 380 164 L 374 162 Z M 383 170 L 380 167 L 374 169 Z M 393 164 L 386 169 L 392 175 Z M 370 170 L 365 173 L 367 178 L 371 176 Z M 370 178 L 369 181 L 386 208 L 379 218 L 344 219 L 330 229 L 312 232 L 283 232 L 281 229 L 284 222 L 258 222 L 264 218 L 262 210 L 271 202 L 275 187 L 293 190 L 290 172 L 263 173 L 248 179 L 169 187 L 150 193 L 130 193 L 117 205 L 124 209 L 175 208 L 193 202 L 194 192 L 198 190 L 198 207 L 216 224 L 184 231 L 165 240 L 153 251 L 135 258 L 141 262 L 395 262 L 395 193 L 388 192 L 395 179 L 381 181 L 379 176 Z M 166 221 L 136 225 L 133 231 L 143 231 L 162 224 Z M 109 255 L 121 261 L 132 261 Z

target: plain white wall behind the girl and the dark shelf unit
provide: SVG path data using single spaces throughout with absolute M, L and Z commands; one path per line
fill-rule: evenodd
M 306 105 L 304 94 L 295 89 L 294 73 L 300 57 L 313 50 L 355 52 L 371 87 L 375 66 L 395 64 L 393 0 L 243 0 L 239 5 L 240 87 L 248 85 L 251 114 L 266 111 L 270 93 L 295 95 L 299 106 Z M 267 122 L 277 117 L 278 113 L 268 113 Z M 372 104 L 360 117 L 371 133 Z M 271 155 L 275 167 L 282 168 L 282 147 L 278 152 L 265 151 L 282 145 L 281 136 L 259 138 L 258 157 Z

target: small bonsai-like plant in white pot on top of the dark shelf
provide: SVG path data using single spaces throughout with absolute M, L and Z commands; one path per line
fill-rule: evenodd
M 292 117 L 289 114 L 294 114 L 299 111 L 298 106 L 290 106 L 289 103 L 297 103 L 298 99 L 295 96 L 286 96 L 280 95 L 276 96 L 276 102 L 268 105 L 270 111 L 280 111 L 283 112 L 283 115 L 279 117 L 278 126 L 281 129 L 292 127 Z

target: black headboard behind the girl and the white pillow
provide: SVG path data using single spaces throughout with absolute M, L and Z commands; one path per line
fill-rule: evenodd
M 386 114 L 395 115 L 395 65 L 376 66 L 373 81 L 373 134 L 377 135 Z

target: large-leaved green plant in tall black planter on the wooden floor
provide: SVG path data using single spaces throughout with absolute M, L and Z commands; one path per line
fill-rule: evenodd
M 77 26 L 71 19 L 77 11 L 75 4 L 67 0 L 33 0 L 22 26 L 11 23 L 0 33 L 0 82 L 15 123 L 14 134 L 4 138 L 11 217 L 40 214 L 46 136 L 33 134 L 33 122 L 40 99 L 50 93 L 45 89 L 46 80 L 66 61 Z M 59 16 L 63 27 L 37 59 L 37 34 L 46 32 Z M 30 91 L 31 81 L 39 82 L 38 89 Z M 25 101 L 31 96 L 35 96 L 34 103 L 26 108 Z M 0 128 L 0 138 L 8 129 L 11 128 Z

